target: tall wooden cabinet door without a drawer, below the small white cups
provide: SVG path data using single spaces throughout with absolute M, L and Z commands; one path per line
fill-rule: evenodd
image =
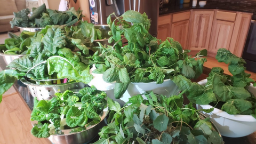
M 189 42 L 190 50 L 208 50 L 214 11 L 193 11 L 191 13 Z

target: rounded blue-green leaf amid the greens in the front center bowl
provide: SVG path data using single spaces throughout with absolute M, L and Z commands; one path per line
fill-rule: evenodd
M 154 128 L 160 132 L 165 131 L 167 129 L 168 122 L 169 118 L 166 115 L 159 115 L 153 121 Z

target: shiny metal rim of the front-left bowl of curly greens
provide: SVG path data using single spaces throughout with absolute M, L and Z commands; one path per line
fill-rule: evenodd
M 51 135 L 53 135 L 53 136 L 64 136 L 64 135 L 71 135 L 71 134 L 81 133 L 81 132 L 90 130 L 90 129 L 92 129 L 93 127 L 95 127 L 95 126 L 97 126 L 98 124 L 100 124 L 100 123 L 106 118 L 106 116 L 108 115 L 108 112 L 109 112 L 109 108 L 108 108 L 108 107 L 106 107 L 105 109 L 103 109 L 103 111 L 100 113 L 100 122 L 97 123 L 97 124 L 91 125 L 91 126 L 89 126 L 89 127 L 85 127 L 86 129 L 83 130 L 83 131 L 70 133 L 72 130 L 76 130 L 76 129 L 79 129 L 79 128 L 80 128 L 80 127 L 76 127 L 76 128 L 73 128 L 73 129 L 61 130 L 64 134 L 51 134 Z M 105 114 L 105 115 L 104 115 L 104 114 Z M 32 124 L 33 126 L 34 126 L 36 123 L 37 123 L 37 121 L 31 121 L 31 124 Z

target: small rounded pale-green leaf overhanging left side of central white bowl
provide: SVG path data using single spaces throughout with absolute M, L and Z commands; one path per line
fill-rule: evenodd
M 118 79 L 118 71 L 114 68 L 109 68 L 103 73 L 102 78 L 107 83 L 115 82 Z

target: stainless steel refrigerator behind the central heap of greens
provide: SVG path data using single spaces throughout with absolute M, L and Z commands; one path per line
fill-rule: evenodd
M 127 10 L 146 12 L 151 19 L 149 33 L 157 36 L 157 19 L 159 0 L 89 0 L 91 22 L 95 25 L 106 25 L 109 14 L 122 15 Z

